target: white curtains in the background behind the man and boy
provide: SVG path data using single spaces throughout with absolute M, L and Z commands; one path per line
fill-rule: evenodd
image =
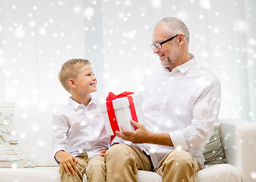
M 61 64 L 88 58 L 98 93 L 139 91 L 158 64 L 154 24 L 179 17 L 190 52 L 222 83 L 219 118 L 256 121 L 255 0 L 0 0 L 0 101 L 66 102 Z

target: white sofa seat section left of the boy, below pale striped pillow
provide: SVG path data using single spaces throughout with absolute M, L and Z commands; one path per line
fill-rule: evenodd
M 1 182 L 60 182 L 59 167 L 0 168 Z

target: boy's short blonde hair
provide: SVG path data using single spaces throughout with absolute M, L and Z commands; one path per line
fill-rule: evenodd
M 62 68 L 59 71 L 59 82 L 66 91 L 70 93 L 69 79 L 75 79 L 78 70 L 88 64 L 91 64 L 91 62 L 82 58 L 70 59 L 62 64 Z

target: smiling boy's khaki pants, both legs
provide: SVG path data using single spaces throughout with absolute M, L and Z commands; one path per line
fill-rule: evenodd
M 76 156 L 78 163 L 76 168 L 78 171 L 72 175 L 68 175 L 59 168 L 62 182 L 82 182 L 83 175 L 86 174 L 88 182 L 103 182 L 106 181 L 106 166 L 104 163 L 104 157 L 99 155 L 88 158 L 88 155 L 82 154 Z

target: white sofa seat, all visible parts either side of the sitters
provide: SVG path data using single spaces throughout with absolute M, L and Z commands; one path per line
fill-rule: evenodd
M 150 171 L 138 171 L 139 182 L 162 182 L 162 177 Z M 0 168 L 1 182 L 60 182 L 59 167 Z M 84 182 L 87 181 L 84 175 Z M 210 165 L 197 172 L 195 182 L 242 182 L 237 168 L 229 164 Z

